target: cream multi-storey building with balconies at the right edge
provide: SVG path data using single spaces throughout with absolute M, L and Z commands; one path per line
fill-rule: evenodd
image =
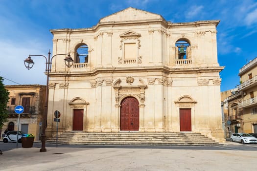
M 243 113 L 244 131 L 257 133 L 257 58 L 239 70 L 242 101 L 238 107 Z

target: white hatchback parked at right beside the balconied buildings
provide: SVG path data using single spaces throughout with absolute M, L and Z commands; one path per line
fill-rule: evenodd
M 241 142 L 242 144 L 245 144 L 245 143 L 257 144 L 257 138 L 250 135 L 249 133 L 233 133 L 230 139 L 233 142 Z

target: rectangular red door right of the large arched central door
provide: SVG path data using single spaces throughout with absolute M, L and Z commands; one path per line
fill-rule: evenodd
M 180 108 L 180 131 L 191 131 L 191 109 L 190 108 Z

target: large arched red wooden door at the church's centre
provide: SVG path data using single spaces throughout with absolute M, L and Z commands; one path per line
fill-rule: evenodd
M 139 102 L 134 97 L 121 102 L 120 130 L 139 130 Z

